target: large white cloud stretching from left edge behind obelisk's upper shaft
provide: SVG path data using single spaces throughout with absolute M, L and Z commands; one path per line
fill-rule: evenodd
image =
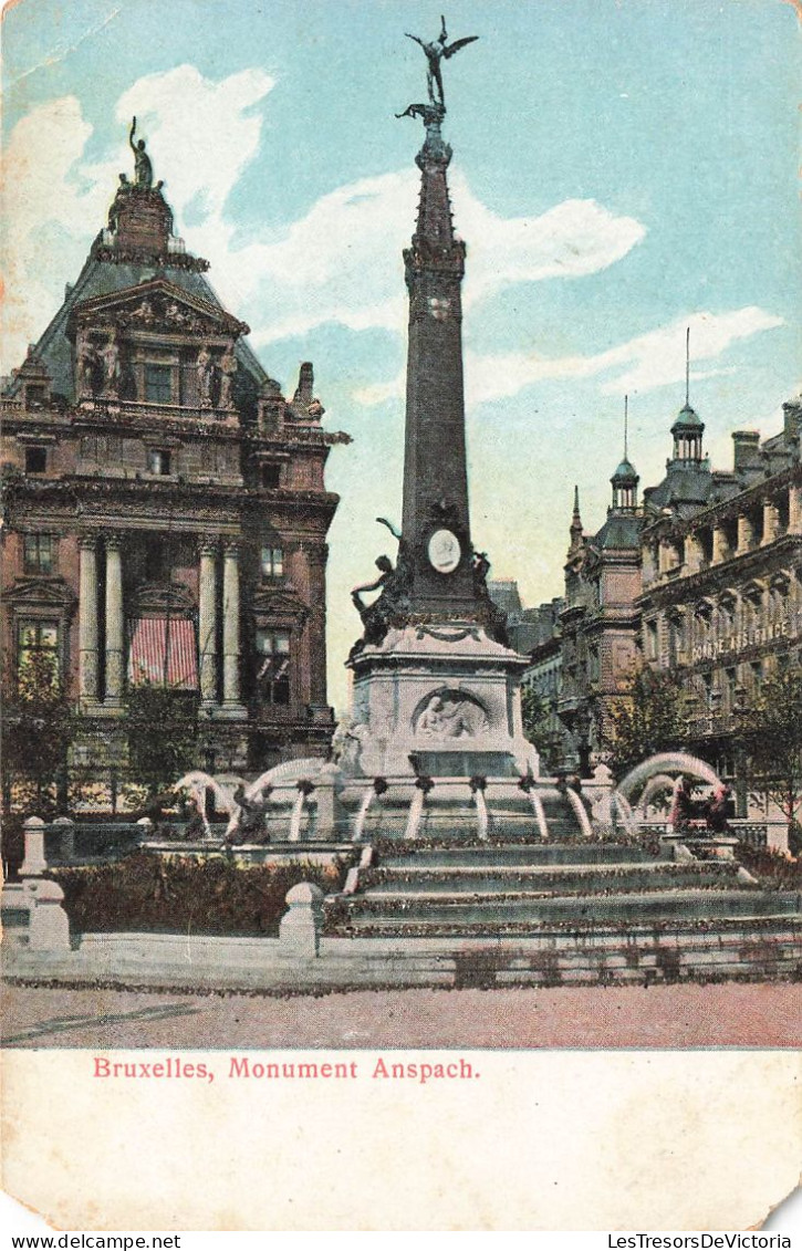
M 417 203 L 414 169 L 339 186 L 279 236 L 255 231 L 238 243 L 228 201 L 259 153 L 263 115 L 256 105 L 273 86 L 260 69 L 215 83 L 195 66 L 180 65 L 134 83 L 115 116 L 126 133 L 136 115 L 155 176 L 165 180 L 176 229 L 186 220 L 190 249 L 211 261 L 215 286 L 250 322 L 256 345 L 332 323 L 403 333 L 400 251 Z M 74 96 L 40 105 L 11 134 L 8 279 L 19 301 L 10 334 L 18 358 L 58 308 L 61 281 L 86 254 L 88 224 L 93 233 L 100 229 L 116 174 L 130 168 L 126 140 L 100 163 L 89 163 L 84 154 L 91 135 Z M 646 233 L 633 218 L 594 200 L 567 200 L 539 216 L 502 218 L 458 174 L 452 194 L 455 220 L 472 240 L 467 305 L 513 283 L 597 273 Z M 50 253 L 45 248 L 43 254 L 43 239 L 51 239 Z

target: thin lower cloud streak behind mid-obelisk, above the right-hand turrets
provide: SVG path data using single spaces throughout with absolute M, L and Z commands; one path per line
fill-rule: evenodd
M 686 370 L 686 328 L 691 328 L 693 377 L 716 377 L 734 372 L 733 365 L 694 368 L 696 362 L 717 360 L 739 339 L 783 325 L 783 319 L 748 305 L 732 313 L 693 313 L 674 318 L 658 330 L 638 335 L 608 352 L 589 357 L 542 357 L 534 352 L 483 355 L 465 353 L 465 398 L 469 404 L 508 399 L 538 382 L 561 378 L 599 378 L 607 395 L 646 393 L 677 383 Z M 359 404 L 370 407 L 404 393 L 404 374 L 387 383 L 354 393 Z

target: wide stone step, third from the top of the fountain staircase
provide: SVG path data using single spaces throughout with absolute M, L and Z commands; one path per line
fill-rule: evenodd
M 348 928 L 375 928 L 390 933 L 414 927 L 415 932 L 440 929 L 463 932 L 463 927 L 576 924 L 579 927 L 621 922 L 642 924 L 672 921 L 714 921 L 724 917 L 776 917 L 797 912 L 801 897 L 779 891 L 653 891 L 601 896 L 536 896 L 519 892 L 509 898 L 494 896 L 427 897 L 357 894 L 342 901 Z M 339 924 L 340 922 L 338 922 Z

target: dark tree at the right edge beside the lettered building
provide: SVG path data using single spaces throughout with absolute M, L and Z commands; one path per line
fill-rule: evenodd
M 802 671 L 777 673 L 739 714 L 752 791 L 776 803 L 788 826 L 802 806 Z

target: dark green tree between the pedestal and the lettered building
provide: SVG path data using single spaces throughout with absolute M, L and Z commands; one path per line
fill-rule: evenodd
M 681 688 L 669 673 L 648 666 L 636 669 L 628 689 L 612 701 L 602 729 L 607 763 L 617 778 L 657 752 L 684 744 L 684 704 Z

